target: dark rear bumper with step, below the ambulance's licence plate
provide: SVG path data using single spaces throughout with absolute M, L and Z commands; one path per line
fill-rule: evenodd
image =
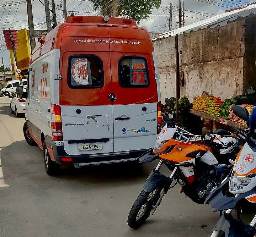
M 63 145 L 55 145 L 55 141 L 52 139 L 47 139 L 47 147 L 52 146 L 53 156 L 56 162 L 66 163 L 61 160 L 61 158 L 72 158 L 72 163 L 76 168 L 82 168 L 85 166 L 94 165 L 106 165 L 106 164 L 118 164 L 123 162 L 138 162 L 137 159 L 146 150 L 135 150 L 135 151 L 124 151 L 124 152 L 114 152 L 114 153 L 104 153 L 104 154 L 86 154 L 86 155 L 68 155 Z

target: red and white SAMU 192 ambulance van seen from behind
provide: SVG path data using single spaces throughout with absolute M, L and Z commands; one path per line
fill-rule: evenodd
M 148 31 L 130 19 L 69 16 L 38 39 L 23 132 L 48 175 L 136 161 L 161 129 L 159 75 Z

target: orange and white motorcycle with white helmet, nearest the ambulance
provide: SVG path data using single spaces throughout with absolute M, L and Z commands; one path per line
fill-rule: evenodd
M 154 214 L 164 194 L 177 183 L 181 186 L 180 192 L 196 203 L 204 203 L 213 187 L 222 181 L 210 180 L 208 167 L 212 169 L 214 166 L 212 172 L 226 170 L 226 173 L 222 173 L 224 178 L 231 169 L 228 160 L 234 159 L 238 152 L 236 148 L 239 142 L 232 133 L 220 129 L 205 137 L 194 135 L 174 125 L 172 116 L 169 116 L 166 116 L 168 122 L 158 135 L 155 147 L 139 158 L 141 163 L 159 158 L 160 161 L 130 210 L 127 222 L 131 228 L 138 228 L 150 214 Z M 172 171 L 170 177 L 160 173 L 163 164 Z

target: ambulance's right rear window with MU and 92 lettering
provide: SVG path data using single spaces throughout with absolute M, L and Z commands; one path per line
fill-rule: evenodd
M 148 65 L 144 57 L 124 56 L 119 60 L 119 83 L 122 87 L 147 87 Z

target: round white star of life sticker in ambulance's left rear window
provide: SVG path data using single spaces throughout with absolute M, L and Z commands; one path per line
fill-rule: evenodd
M 87 59 L 76 60 L 72 65 L 71 75 L 77 83 L 89 85 Z

